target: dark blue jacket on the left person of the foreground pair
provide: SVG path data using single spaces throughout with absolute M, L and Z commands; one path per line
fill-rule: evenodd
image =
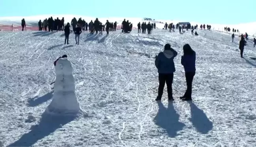
M 176 71 L 173 59 L 177 56 L 177 52 L 170 48 L 169 50 L 164 50 L 160 52 L 155 60 L 156 68 L 158 73 L 170 74 Z

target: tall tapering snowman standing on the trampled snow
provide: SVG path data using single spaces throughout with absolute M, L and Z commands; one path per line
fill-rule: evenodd
M 60 58 L 56 62 L 55 73 L 53 100 L 45 112 L 50 115 L 77 115 L 81 108 L 76 97 L 71 62 L 67 58 Z

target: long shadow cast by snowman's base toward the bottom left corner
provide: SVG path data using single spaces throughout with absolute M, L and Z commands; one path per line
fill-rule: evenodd
M 19 140 L 7 147 L 32 147 L 38 140 L 55 132 L 56 129 L 73 121 L 75 118 L 75 116 L 56 116 L 43 113 L 38 125 L 32 126 L 30 132 L 23 134 Z

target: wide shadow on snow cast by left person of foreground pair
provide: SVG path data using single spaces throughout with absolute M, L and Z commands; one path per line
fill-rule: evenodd
M 158 113 L 154 118 L 155 124 L 164 128 L 169 137 L 177 136 L 177 132 L 182 130 L 185 124 L 179 122 L 179 114 L 174 109 L 173 102 L 169 102 L 167 108 L 162 102 L 158 102 L 158 107 Z

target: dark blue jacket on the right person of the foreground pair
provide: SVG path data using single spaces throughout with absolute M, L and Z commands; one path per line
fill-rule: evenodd
M 196 52 L 193 52 L 192 55 L 181 56 L 181 64 L 183 65 L 185 72 L 195 72 Z

